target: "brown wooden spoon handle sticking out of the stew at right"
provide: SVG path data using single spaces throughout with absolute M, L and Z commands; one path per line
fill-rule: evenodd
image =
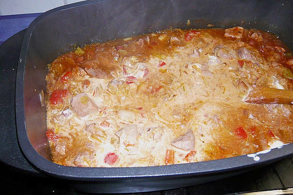
M 293 103 L 293 90 L 282 90 L 259 85 L 251 85 L 253 90 L 249 91 L 244 98 L 245 102 L 254 104 L 288 104 Z

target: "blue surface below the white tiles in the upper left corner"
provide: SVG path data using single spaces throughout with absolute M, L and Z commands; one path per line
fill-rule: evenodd
M 0 44 L 12 35 L 27 28 L 42 13 L 0 16 Z

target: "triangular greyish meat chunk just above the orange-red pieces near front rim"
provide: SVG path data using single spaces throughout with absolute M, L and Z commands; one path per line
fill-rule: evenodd
M 194 134 L 191 130 L 189 130 L 186 134 L 173 140 L 171 145 L 188 151 L 194 149 L 194 143 Z

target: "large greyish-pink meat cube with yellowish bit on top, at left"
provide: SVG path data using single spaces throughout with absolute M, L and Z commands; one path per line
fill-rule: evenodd
M 85 117 L 98 111 L 98 106 L 85 93 L 78 94 L 72 98 L 71 106 L 77 115 Z

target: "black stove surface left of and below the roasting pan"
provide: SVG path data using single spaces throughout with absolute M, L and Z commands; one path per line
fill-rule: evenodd
M 25 30 L 0 45 L 0 162 L 3 194 L 84 194 L 75 191 L 69 181 L 46 176 L 26 160 L 20 151 L 15 122 L 15 79 L 17 62 Z M 250 172 L 185 188 L 141 194 L 228 194 L 271 190 L 293 186 L 293 157 Z

